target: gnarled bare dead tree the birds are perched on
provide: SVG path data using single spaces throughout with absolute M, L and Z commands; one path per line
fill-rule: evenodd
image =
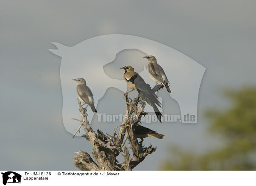
M 156 92 L 161 87 L 163 86 L 157 85 L 152 91 Z M 135 126 L 140 123 L 141 117 L 147 114 L 144 112 L 145 101 L 141 100 L 139 95 L 130 102 L 126 94 L 124 98 L 126 101 L 125 117 L 122 121 L 122 125 L 119 126 L 118 134 L 116 134 L 116 128 L 113 132 L 113 136 L 109 134 L 105 135 L 99 129 L 97 130 L 97 134 L 93 131 L 87 121 L 87 110 L 81 106 L 81 102 L 78 99 L 81 120 L 75 120 L 79 121 L 81 124 L 77 131 L 79 131 L 82 126 L 84 127 L 85 134 L 82 137 L 90 141 L 93 147 L 93 158 L 96 161 L 95 162 L 87 152 L 75 152 L 76 156 L 73 157 L 73 163 L 78 169 L 87 171 L 130 171 L 142 162 L 148 154 L 156 150 L 156 147 L 154 148 L 152 145 L 145 148 L 142 141 L 138 142 L 134 134 Z M 129 140 L 130 146 L 125 145 L 126 139 Z M 133 152 L 132 158 L 130 158 L 128 148 L 131 148 Z M 122 153 L 124 157 L 124 162 L 116 160 L 116 157 L 119 156 L 120 153 Z

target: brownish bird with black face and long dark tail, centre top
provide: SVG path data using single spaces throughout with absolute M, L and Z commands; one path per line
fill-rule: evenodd
M 161 107 L 161 103 L 158 101 L 157 95 L 151 91 L 151 87 L 149 84 L 146 84 L 144 79 L 136 72 L 134 72 L 134 68 L 131 66 L 125 66 L 120 69 L 125 70 L 124 73 L 124 79 L 127 83 L 128 87 L 131 89 L 131 91 L 125 93 L 128 95 L 128 93 L 136 90 L 138 91 L 139 95 L 143 100 L 145 100 L 151 107 L 153 107 L 154 112 L 157 115 L 157 119 L 161 121 L 161 116 L 163 116 L 159 109 L 157 108 L 157 105 Z

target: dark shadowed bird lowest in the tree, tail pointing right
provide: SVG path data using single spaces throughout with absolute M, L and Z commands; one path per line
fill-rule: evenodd
M 158 134 L 156 131 L 152 131 L 149 128 L 145 128 L 141 125 L 137 125 L 135 127 L 135 137 L 140 138 L 143 140 L 143 138 L 151 136 L 151 137 L 156 137 L 158 139 L 163 139 L 164 135 L 163 134 Z

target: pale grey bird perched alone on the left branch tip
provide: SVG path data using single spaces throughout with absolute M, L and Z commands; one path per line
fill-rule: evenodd
M 80 101 L 87 104 L 86 108 L 90 106 L 93 112 L 97 112 L 94 106 L 93 93 L 90 88 L 86 86 L 86 81 L 84 78 L 76 78 L 72 80 L 77 82 L 76 92 Z

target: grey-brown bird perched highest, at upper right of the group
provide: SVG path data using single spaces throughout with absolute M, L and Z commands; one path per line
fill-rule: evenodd
M 167 79 L 166 74 L 164 73 L 163 68 L 157 64 L 157 59 L 153 55 L 144 56 L 143 58 L 148 59 L 148 73 L 150 78 L 155 81 L 156 85 L 157 82 L 160 82 L 166 87 L 166 90 L 171 93 L 171 90 L 169 88 L 169 81 Z

